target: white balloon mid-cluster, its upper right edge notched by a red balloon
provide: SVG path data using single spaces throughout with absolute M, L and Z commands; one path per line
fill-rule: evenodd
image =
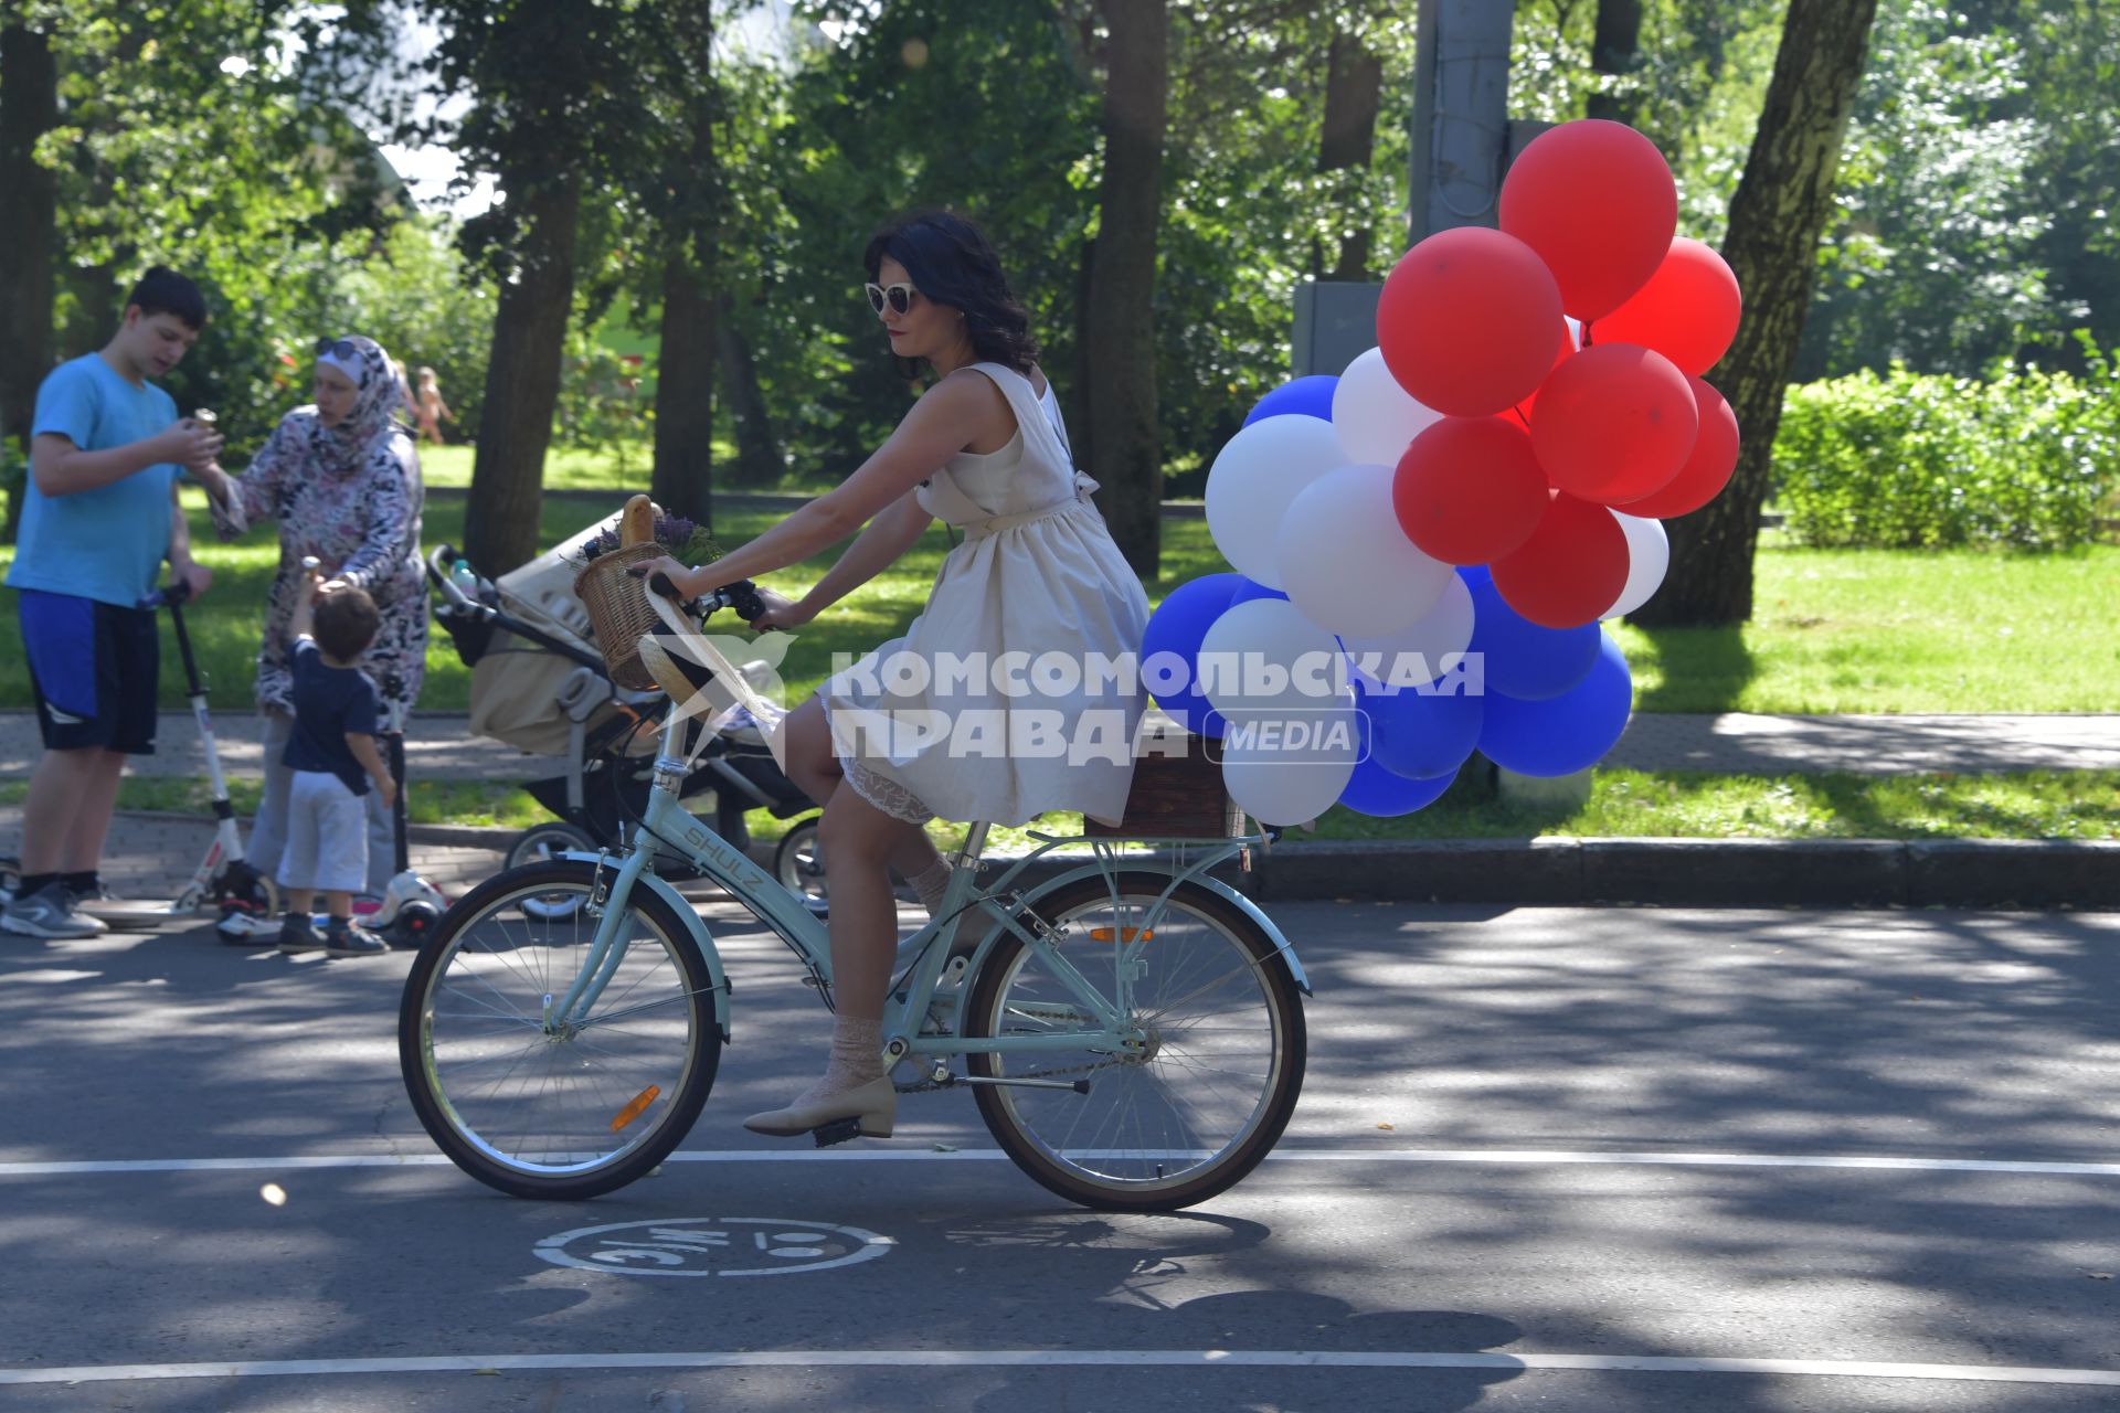
M 1420 553 L 1391 508 L 1389 466 L 1342 466 L 1289 502 L 1274 542 L 1280 587 L 1306 619 L 1333 633 L 1391 633 L 1456 583 Z

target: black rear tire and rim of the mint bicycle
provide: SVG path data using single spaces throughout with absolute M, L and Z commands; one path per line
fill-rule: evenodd
M 1145 907 L 1158 898 L 1170 886 L 1168 873 L 1155 873 L 1145 869 L 1119 871 L 1117 894 L 1121 907 Z M 1102 877 L 1088 877 L 1075 883 L 1066 883 L 1060 890 L 1045 894 L 1035 900 L 1037 913 L 1054 924 L 1060 934 L 1062 955 L 1068 955 L 1068 947 L 1077 941 L 1075 932 L 1088 934 L 1090 928 L 1098 924 L 1085 924 L 1088 917 L 1096 915 L 1102 907 L 1107 913 L 1113 905 L 1113 892 Z M 1247 985 L 1257 989 L 1257 1008 L 1270 1034 L 1270 1051 L 1266 1055 L 1266 1068 L 1261 1074 L 1259 1093 L 1251 1099 L 1249 1110 L 1236 1121 L 1236 1131 L 1227 1142 L 1215 1146 L 1204 1161 L 1196 1161 L 1183 1171 L 1164 1174 L 1162 1161 L 1177 1161 L 1177 1152 L 1158 1152 L 1147 1140 L 1147 1119 L 1134 1116 L 1134 1133 L 1141 1135 L 1141 1152 L 1121 1159 L 1111 1159 L 1096 1150 L 1088 1150 L 1085 1159 L 1081 1152 L 1071 1157 L 1062 1146 L 1052 1142 L 1052 1133 L 1043 1129 L 1056 1129 L 1058 1123 L 1068 1123 L 1068 1135 L 1081 1125 L 1083 1116 L 1094 1110 L 1098 1099 L 1098 1085 L 1109 1085 L 1111 1080 L 1126 1080 L 1126 1072 L 1134 1076 L 1147 1074 L 1149 1066 L 1164 1059 L 1170 1051 L 1168 1072 L 1179 1068 L 1211 1070 L 1200 1066 L 1196 1057 L 1187 1055 L 1183 1047 L 1177 1047 L 1177 1038 L 1191 1040 L 1194 1032 L 1183 1030 L 1181 1021 L 1174 1021 L 1168 1013 L 1155 1015 L 1153 1004 L 1143 1004 L 1136 996 L 1136 1015 L 1147 1023 L 1151 1032 L 1149 1053 L 1138 1059 L 1102 1059 L 1090 1066 L 1073 1066 L 1075 1070 L 1117 1070 L 1117 1074 L 1105 1074 L 1102 1080 L 1092 1080 L 1088 1095 L 1071 1095 L 1064 1091 L 1049 1089 L 1015 1089 L 1003 1085 L 979 1085 L 975 1089 L 979 1116 L 986 1121 L 988 1131 L 994 1142 L 1009 1155 L 1009 1159 L 1035 1182 L 1045 1186 L 1073 1203 L 1100 1212 L 1174 1212 L 1179 1208 L 1189 1208 L 1206 1201 L 1232 1184 L 1242 1180 L 1253 1167 L 1257 1167 L 1272 1146 L 1280 1140 L 1280 1133 L 1289 1125 L 1289 1116 L 1295 1112 L 1295 1099 L 1302 1093 L 1304 1083 L 1304 1059 L 1306 1059 L 1306 1030 L 1304 1030 L 1304 1008 L 1302 996 L 1295 989 L 1295 981 L 1289 968 L 1276 953 L 1276 947 L 1268 932 L 1249 917 L 1242 909 L 1230 905 L 1217 892 L 1202 888 L 1200 883 L 1181 883 L 1166 905 L 1166 919 L 1191 917 L 1208 928 L 1213 928 L 1221 943 L 1232 951 L 1227 958 L 1227 974 L 1234 989 L 1238 991 L 1238 1006 L 1242 1010 L 1242 994 Z M 1128 926 L 1124 922 L 1119 928 Z M 1158 928 L 1168 928 L 1170 922 L 1160 922 Z M 1124 932 L 1119 934 L 1124 936 Z M 1166 932 L 1168 938 L 1168 932 Z M 1092 945 L 1107 945 L 1090 938 Z M 1153 934 L 1143 938 L 1141 947 L 1155 947 Z M 1147 958 L 1151 953 L 1143 953 Z M 1213 951 L 1208 955 L 1215 955 Z M 1001 1034 L 1009 1017 L 1011 987 L 1030 989 L 1035 983 L 1024 983 L 1024 974 L 1035 960 L 1032 949 L 1028 949 L 1013 932 L 1003 932 L 1001 938 L 979 962 L 977 974 L 971 979 L 965 1004 L 965 1034 L 967 1036 L 994 1036 Z M 1183 964 L 1172 964 L 1183 966 Z M 1083 968 L 1077 968 L 1083 970 Z M 1238 981 L 1242 972 L 1249 981 Z M 1092 977 L 1090 970 L 1083 970 Z M 1189 1000 L 1189 998 L 1181 998 Z M 1022 1002 L 1018 1002 L 1022 1006 Z M 1170 1008 L 1174 1010 L 1174 1006 Z M 1022 1017 L 1022 1010 L 1018 1010 Z M 1177 1025 L 1179 1034 L 1164 1034 L 1164 1025 Z M 1052 1025 L 1018 1021 L 1020 1030 L 1035 1030 Z M 1221 1030 L 1221 1027 L 1217 1027 Z M 1234 1030 L 1234 1027 L 1232 1027 Z M 1054 1063 L 1052 1059 L 1041 1059 L 1037 1055 L 1009 1059 L 1001 1053 L 971 1053 L 967 1055 L 967 1070 L 977 1078 L 1007 1078 L 1015 1074 L 1018 1078 L 1037 1078 L 1039 1074 L 1066 1076 L 1068 1066 Z M 1066 1059 L 1062 1055 L 1062 1059 Z M 1011 1070 L 1009 1066 L 1018 1068 Z M 1041 1068 L 1043 1066 L 1043 1068 Z M 1168 1074 L 1164 1076 L 1168 1080 Z M 1147 1080 L 1141 1080 L 1147 1087 Z M 1085 1110 L 1073 1121 L 1066 1116 L 1064 1106 L 1068 1102 L 1083 1104 Z M 1164 1095 L 1166 1108 L 1172 1119 L 1183 1123 L 1183 1114 Z M 1111 1106 L 1124 1104 L 1124 1095 L 1111 1099 Z M 1056 1123 L 1041 1125 L 1039 1114 L 1054 1112 Z M 1115 1121 L 1109 1116 L 1094 1119 L 1094 1133 L 1117 1133 L 1126 1135 L 1128 1119 L 1119 1114 Z M 1189 1155 L 1189 1150 L 1185 1150 Z M 1119 1167 L 1124 1163 L 1158 1163 L 1153 1174 L 1145 1176 L 1124 1176 L 1115 1171 L 1098 1171 L 1090 1167 L 1096 1161 L 1105 1167 Z

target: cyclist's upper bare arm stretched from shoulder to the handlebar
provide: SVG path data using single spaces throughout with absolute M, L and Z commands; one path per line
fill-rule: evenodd
M 996 398 L 990 388 L 992 383 L 986 381 L 984 373 L 946 377 L 914 403 L 914 409 L 905 413 L 905 422 L 890 434 L 890 441 L 878 447 L 876 455 L 863 462 L 854 475 L 803 504 L 759 538 L 697 570 L 687 570 L 670 559 L 657 559 L 651 566 L 640 566 L 640 570 L 670 574 L 676 587 L 687 597 L 693 597 L 738 578 L 757 578 L 774 570 L 784 570 L 837 544 L 890 502 L 912 498 L 916 485 L 933 477 L 943 462 L 971 445 L 973 436 L 988 430 L 996 417 Z M 1001 403 L 999 407 L 1005 413 L 1007 405 Z M 912 544 L 912 540 L 907 538 L 899 544 L 899 551 L 905 544 Z M 888 559 L 882 564 L 888 564 Z M 869 570 L 869 574 L 873 572 Z

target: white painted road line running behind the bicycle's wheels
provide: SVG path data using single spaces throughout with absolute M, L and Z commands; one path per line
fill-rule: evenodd
M 670 1163 L 994 1163 L 999 1148 L 712 1148 L 678 1150 Z M 89 1174 L 288 1171 L 303 1167 L 443 1167 L 439 1152 L 348 1152 L 284 1159 L 104 1159 L 0 1163 L 0 1178 Z M 1560 1148 L 1276 1148 L 1278 1163 L 1490 1163 L 1503 1167 L 1844 1167 L 1868 1171 L 2027 1174 L 2035 1178 L 2120 1178 L 2120 1163 L 2033 1163 L 2012 1159 L 1912 1159 L 1804 1152 L 1577 1152 Z

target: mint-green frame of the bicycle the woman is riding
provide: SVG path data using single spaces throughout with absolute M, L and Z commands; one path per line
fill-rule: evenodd
M 589 945 L 589 955 L 581 964 L 575 983 L 558 1000 L 547 1000 L 545 1004 L 545 1030 L 553 1034 L 564 1027 L 581 1025 L 589 1008 L 602 996 L 604 987 L 617 974 L 619 962 L 625 958 L 625 947 L 630 938 L 619 936 L 619 919 L 625 915 L 625 900 L 632 890 L 640 886 L 642 875 L 647 875 L 649 886 L 657 892 L 668 894 L 674 900 L 676 913 L 691 924 L 691 941 L 708 962 L 708 972 L 712 977 L 714 989 L 714 1013 L 723 1038 L 729 1036 L 729 1013 L 727 1013 L 727 981 L 721 972 L 721 960 L 714 951 L 712 936 L 706 932 L 706 924 L 697 913 L 676 898 L 666 881 L 653 875 L 655 854 L 664 847 L 683 854 L 693 869 L 704 877 L 712 879 L 725 888 L 738 902 L 757 913 L 780 938 L 801 958 L 803 966 L 816 979 L 823 994 L 829 994 L 831 985 L 831 941 L 825 924 L 810 913 L 803 902 L 789 892 L 776 877 L 759 869 L 740 849 L 731 847 L 712 828 L 693 818 L 676 797 L 681 788 L 687 763 L 668 754 L 668 741 L 676 731 L 676 718 L 672 716 L 666 725 L 664 739 L 666 750 L 655 758 L 653 788 L 649 790 L 647 809 L 642 811 L 642 826 L 634 835 L 632 849 L 617 864 L 611 883 L 604 883 L 604 869 L 613 864 L 611 854 L 568 854 L 566 858 L 589 860 L 598 864 L 596 886 L 591 888 L 589 909 L 600 911 L 596 938 Z M 958 852 L 958 866 L 950 877 L 950 886 L 937 909 L 937 917 L 922 926 L 914 936 L 899 943 L 897 962 L 893 968 L 899 972 L 899 981 L 893 985 L 886 1006 L 884 1006 L 884 1053 L 888 1059 L 905 1055 L 909 1049 L 918 1049 L 922 1055 L 969 1055 L 969 1053 L 1020 1053 L 1020 1051 L 1081 1051 L 1081 1049 L 1102 1049 L 1130 1051 L 1143 1044 L 1143 1034 L 1138 1027 L 1126 1021 L 1132 1015 L 1132 985 L 1136 974 L 1136 962 L 1141 958 L 1141 947 L 1147 934 L 1153 932 L 1155 919 L 1162 915 L 1170 896 L 1185 881 L 1196 881 L 1215 894 L 1230 900 L 1234 907 L 1249 913 L 1266 934 L 1274 941 L 1280 962 L 1289 968 L 1295 985 L 1308 994 L 1310 983 L 1304 977 L 1302 964 L 1295 960 L 1295 949 L 1287 943 L 1278 928 L 1253 905 L 1249 898 L 1238 894 L 1227 883 L 1206 877 L 1206 871 L 1215 864 L 1232 858 L 1242 847 L 1261 843 L 1261 835 L 1242 835 L 1234 839 L 1128 839 L 1126 843 L 1164 843 L 1177 849 L 1200 847 L 1200 856 L 1183 869 L 1170 869 L 1170 881 L 1155 902 L 1141 915 L 1136 938 L 1115 938 L 1113 953 L 1113 985 L 1111 989 L 1100 989 L 1088 977 L 1083 977 L 1075 964 L 1060 953 L 1052 943 L 1052 928 L 1043 917 L 1037 915 L 1035 902 L 1054 892 L 1056 888 L 1068 886 L 1088 875 L 1100 875 L 1117 902 L 1117 871 L 1124 856 L 1119 854 L 1121 841 L 1107 839 L 1079 839 L 1064 835 L 1039 835 L 1041 847 L 1018 860 L 1007 869 L 992 888 L 982 890 L 977 886 L 977 856 L 986 843 L 986 824 L 973 824 L 965 847 Z M 1062 873 L 1060 877 L 1039 883 L 1030 892 L 1020 892 L 1013 888 L 1015 879 L 1045 854 L 1088 843 L 1096 852 L 1096 862 L 1083 864 Z M 1085 1008 L 1100 1030 L 1066 1030 L 1064 1034 L 1052 1036 L 977 1036 L 967 1038 L 960 1034 L 922 1034 L 920 1027 L 929 1017 L 931 1006 L 937 1002 L 937 991 L 941 987 L 941 977 L 950 964 L 950 949 L 937 947 L 937 938 L 948 924 L 965 926 L 975 917 L 986 917 L 999 924 L 1001 930 L 1018 936 L 1026 947 L 1041 958 L 1041 962 L 1052 970 L 1056 979 L 1073 994 L 1073 998 Z M 969 960 L 967 968 L 960 972 L 965 977 L 973 974 L 984 955 L 994 947 L 1001 930 L 992 932 L 979 943 L 979 949 Z M 954 998 L 950 998 L 954 1000 Z

